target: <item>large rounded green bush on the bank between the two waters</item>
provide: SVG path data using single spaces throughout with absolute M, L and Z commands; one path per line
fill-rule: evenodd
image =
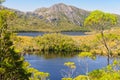
M 76 51 L 79 45 L 72 38 L 52 33 L 36 38 L 41 51 Z

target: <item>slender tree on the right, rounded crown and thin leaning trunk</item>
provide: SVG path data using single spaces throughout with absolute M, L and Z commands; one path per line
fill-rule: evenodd
M 111 49 L 109 48 L 105 35 L 104 30 L 110 28 L 111 26 L 117 23 L 117 17 L 113 14 L 104 13 L 99 10 L 95 10 L 91 12 L 91 14 L 85 19 L 84 26 L 89 26 L 90 29 L 94 29 L 97 32 L 99 31 L 102 37 L 103 45 L 107 50 L 108 55 L 108 64 L 109 64 L 109 57 L 111 56 Z

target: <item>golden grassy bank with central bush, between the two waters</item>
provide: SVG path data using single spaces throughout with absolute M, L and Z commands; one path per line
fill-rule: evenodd
M 118 29 L 119 30 L 119 29 Z M 110 47 L 114 47 L 119 43 L 119 34 L 117 29 L 112 30 L 108 37 L 113 36 L 118 40 L 109 40 L 108 44 Z M 108 33 L 106 31 L 106 33 Z M 22 34 L 22 33 L 21 33 Z M 29 33 L 26 33 L 29 34 Z M 35 33 L 36 34 L 36 33 Z M 74 36 L 73 35 L 63 35 L 60 33 L 51 33 L 51 34 L 44 34 L 43 36 L 35 36 L 34 33 L 31 33 L 31 36 L 25 36 L 24 33 L 21 36 L 17 36 L 14 39 L 14 44 L 16 49 L 19 51 L 69 51 L 72 50 L 75 46 L 75 49 L 72 51 L 88 51 L 95 54 L 107 55 L 106 49 L 104 48 L 103 44 L 101 44 L 97 39 L 99 34 L 91 34 L 91 35 L 81 35 Z M 38 33 L 37 33 L 38 34 Z M 82 33 L 83 34 L 83 33 Z M 59 36 L 58 36 L 59 35 Z M 69 45 L 68 45 L 69 44 Z M 45 46 L 44 46 L 45 45 Z M 71 47 L 69 47 L 71 46 Z M 63 49 L 62 49 L 63 48 Z M 113 55 L 117 56 L 120 55 L 120 45 L 116 46 L 116 49 L 113 51 Z

